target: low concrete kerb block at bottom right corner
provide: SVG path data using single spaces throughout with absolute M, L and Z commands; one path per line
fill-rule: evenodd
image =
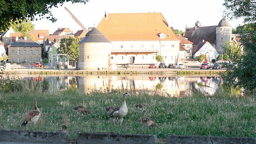
M 256 138 L 168 136 L 167 144 L 255 144 Z

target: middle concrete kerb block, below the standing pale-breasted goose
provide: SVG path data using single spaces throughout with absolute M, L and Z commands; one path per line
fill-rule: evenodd
M 77 134 L 77 144 L 155 144 L 156 135 L 81 133 Z

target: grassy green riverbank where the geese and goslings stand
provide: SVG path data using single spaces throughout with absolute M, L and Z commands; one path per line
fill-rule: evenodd
M 56 131 L 67 125 L 70 136 L 76 141 L 78 131 L 156 134 L 158 138 L 167 135 L 204 135 L 256 137 L 256 98 L 237 97 L 230 93 L 217 93 L 214 96 L 194 92 L 192 96 L 177 98 L 161 94 L 148 95 L 143 91 L 132 93 L 127 98 L 128 114 L 123 127 L 113 127 L 113 119 L 104 110 L 107 106 L 118 107 L 122 103 L 123 91 L 103 90 L 85 94 L 79 90 L 42 92 L 42 89 L 29 90 L 29 83 L 19 92 L 0 92 L 0 128 L 19 129 L 26 112 L 33 110 L 33 98 L 37 98 L 42 113 L 35 128 L 30 130 Z M 211 101 L 215 97 L 216 101 Z M 135 105 L 143 103 L 148 112 L 140 112 Z M 72 108 L 83 105 L 91 112 L 78 119 Z M 145 128 L 137 122 L 139 118 L 151 117 L 156 128 Z M 118 123 L 119 124 L 119 121 Z

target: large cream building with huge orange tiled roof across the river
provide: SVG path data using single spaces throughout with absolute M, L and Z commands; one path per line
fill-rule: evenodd
M 161 13 L 105 14 L 96 27 L 111 41 L 110 62 L 116 64 L 177 64 L 180 40 Z

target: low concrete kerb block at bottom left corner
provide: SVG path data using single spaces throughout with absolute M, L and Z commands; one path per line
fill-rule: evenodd
M 0 130 L 0 144 L 68 144 L 68 133 Z

